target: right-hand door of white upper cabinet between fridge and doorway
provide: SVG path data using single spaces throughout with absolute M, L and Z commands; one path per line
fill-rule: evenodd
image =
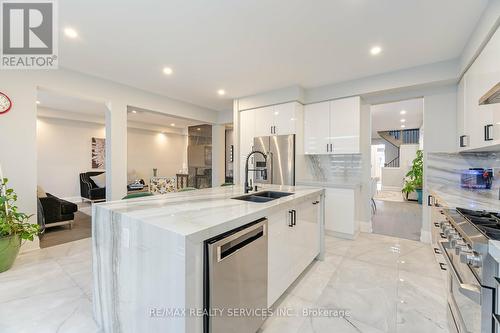
M 332 152 L 334 154 L 359 153 L 360 98 L 343 98 L 330 103 Z

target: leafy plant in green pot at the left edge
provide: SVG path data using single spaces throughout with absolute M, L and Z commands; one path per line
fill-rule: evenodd
M 28 222 L 31 215 L 18 212 L 17 195 L 7 182 L 7 178 L 0 179 L 0 273 L 14 264 L 21 240 L 32 241 L 39 231 L 37 224 Z

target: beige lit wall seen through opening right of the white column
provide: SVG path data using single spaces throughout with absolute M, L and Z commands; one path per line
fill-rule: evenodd
M 146 184 L 153 176 L 174 177 L 187 168 L 187 135 L 159 133 L 129 128 L 127 130 L 128 181 L 144 179 Z

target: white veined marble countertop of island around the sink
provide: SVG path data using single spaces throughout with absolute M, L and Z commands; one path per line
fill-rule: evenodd
M 93 209 L 98 213 L 111 211 L 127 219 L 185 236 L 192 241 L 202 241 L 277 211 L 283 204 L 324 191 L 306 186 L 273 185 L 262 186 L 259 191 L 262 190 L 294 194 L 267 203 L 254 203 L 232 199 L 244 195 L 243 187 L 225 186 L 112 201 L 96 204 Z

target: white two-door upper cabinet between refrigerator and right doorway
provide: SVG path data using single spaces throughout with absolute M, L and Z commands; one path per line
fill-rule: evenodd
M 305 154 L 359 153 L 360 112 L 360 97 L 306 105 Z

